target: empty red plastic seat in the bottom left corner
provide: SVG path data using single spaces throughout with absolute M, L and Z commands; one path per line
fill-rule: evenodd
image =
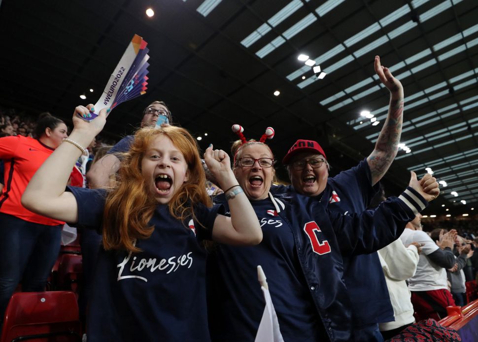
M 5 311 L 0 342 L 81 341 L 78 304 L 73 292 L 15 293 Z

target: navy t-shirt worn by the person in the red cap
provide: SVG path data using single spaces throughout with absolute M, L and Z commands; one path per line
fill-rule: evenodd
M 329 177 L 317 198 L 324 208 L 340 214 L 363 212 L 378 191 L 372 187 L 367 159 L 335 177 Z M 272 187 L 273 193 L 294 191 L 293 187 Z M 340 243 L 340 236 L 338 236 Z M 394 321 L 387 284 L 376 252 L 344 257 L 344 280 L 352 302 L 354 324 Z

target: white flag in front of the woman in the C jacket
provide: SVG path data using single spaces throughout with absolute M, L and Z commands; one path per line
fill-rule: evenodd
M 257 330 L 255 342 L 284 342 L 282 334 L 280 333 L 277 314 L 272 304 L 271 294 L 267 286 L 266 275 L 261 266 L 257 266 L 257 273 L 262 292 L 264 293 L 264 299 L 266 300 L 266 307 L 264 308 L 261 323 Z

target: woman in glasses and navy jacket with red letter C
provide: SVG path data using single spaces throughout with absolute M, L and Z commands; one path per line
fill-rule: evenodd
M 212 341 L 254 341 L 265 308 L 258 265 L 266 274 L 284 341 L 353 341 L 341 255 L 371 252 L 396 240 L 407 220 L 438 196 L 438 183 L 428 175 L 433 186 L 425 192 L 415 176 L 400 199 L 389 199 L 376 213 L 329 214 L 305 196 L 273 196 L 271 149 L 245 138 L 235 144 L 240 146 L 232 149 L 233 171 L 257 215 L 263 241 L 253 247 L 217 245 L 211 252 L 207 280 Z M 214 202 L 225 203 L 234 191 L 226 189 Z

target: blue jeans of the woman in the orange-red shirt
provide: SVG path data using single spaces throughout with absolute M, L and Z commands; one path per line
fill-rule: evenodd
M 62 225 L 49 226 L 0 213 L 0 322 L 17 285 L 43 291 L 60 252 Z

